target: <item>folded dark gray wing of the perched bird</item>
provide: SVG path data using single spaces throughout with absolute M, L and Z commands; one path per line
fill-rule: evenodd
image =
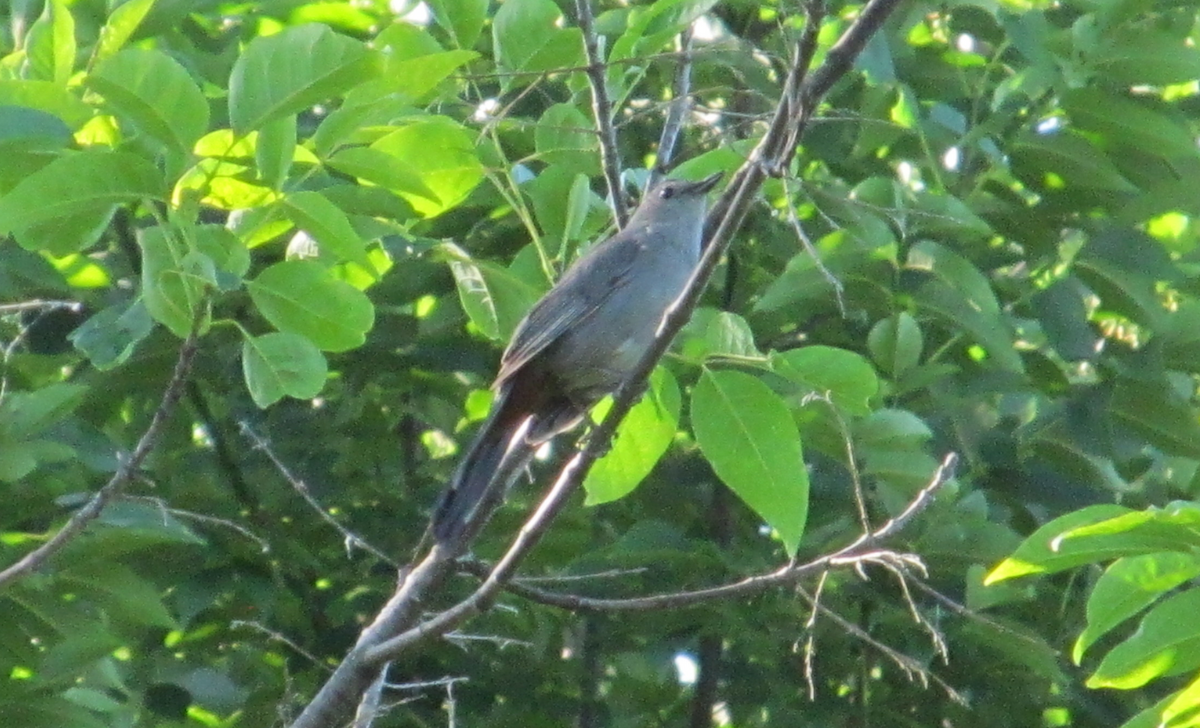
M 493 386 L 500 386 L 558 337 L 589 319 L 605 301 L 624 288 L 642 249 L 644 243 L 618 233 L 577 260 L 517 324 L 512 341 L 500 359 L 500 372 L 496 375 Z

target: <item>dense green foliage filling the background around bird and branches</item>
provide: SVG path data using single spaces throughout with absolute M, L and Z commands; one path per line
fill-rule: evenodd
M 732 172 L 804 11 L 817 64 L 862 11 L 826 5 L 596 5 L 628 189 L 685 28 L 679 172 Z M 196 348 L 124 492 L 0 577 L 0 724 L 270 726 L 312 697 L 506 336 L 611 230 L 575 13 L 0 7 L 0 562 L 120 475 Z M 377 724 L 1200 724 L 1198 40 L 1192 2 L 900 2 L 521 567 L 605 597 L 734 580 L 854 539 L 856 487 L 899 515 L 956 452 L 883 545 L 928 577 L 638 614 L 506 594 L 392 666 L 456 680 L 386 691 Z

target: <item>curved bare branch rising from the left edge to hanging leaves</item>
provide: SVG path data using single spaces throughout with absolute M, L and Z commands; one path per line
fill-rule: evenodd
M 100 491 L 96 491 L 91 500 L 76 511 L 62 528 L 50 536 L 49 541 L 25 554 L 12 566 L 0 571 L 0 590 L 40 568 L 50 556 L 79 536 L 89 523 L 100 517 L 104 511 L 104 506 L 120 495 L 125 487 L 133 480 L 142 467 L 142 462 L 158 445 L 167 421 L 174 414 L 175 405 L 184 393 L 184 384 L 187 381 L 187 375 L 192 371 L 192 361 L 196 359 L 200 323 L 204 320 L 208 306 L 205 302 L 202 302 L 197 307 L 196 318 L 192 320 L 192 329 L 187 338 L 179 347 L 179 357 L 175 360 L 175 368 L 167 381 L 167 389 L 163 390 L 158 408 L 155 410 L 149 427 L 142 433 L 142 438 L 138 439 L 138 444 L 133 447 L 133 452 L 120 463 L 113 477 Z

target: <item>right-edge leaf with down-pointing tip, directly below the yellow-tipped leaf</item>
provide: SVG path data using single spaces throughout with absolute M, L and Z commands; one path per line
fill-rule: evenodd
M 1198 576 L 1200 560 L 1193 554 L 1164 552 L 1114 561 L 1087 597 L 1087 627 L 1075 639 L 1072 660 L 1079 664 L 1097 639 Z

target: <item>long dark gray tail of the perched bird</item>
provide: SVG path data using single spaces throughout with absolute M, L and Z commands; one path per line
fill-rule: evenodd
M 536 447 L 527 440 L 533 419 L 516 407 L 511 387 L 500 390 L 491 414 L 438 499 L 433 511 L 433 537 L 438 543 L 456 543 L 468 531 L 476 530 L 482 525 L 475 523 L 480 505 L 504 498 Z

